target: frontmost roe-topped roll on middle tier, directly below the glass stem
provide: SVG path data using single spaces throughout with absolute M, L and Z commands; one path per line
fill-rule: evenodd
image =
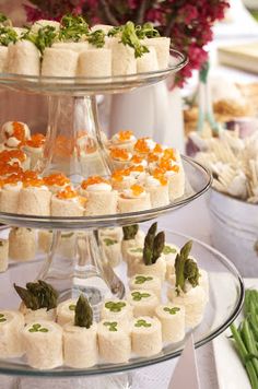
M 52 194 L 50 213 L 51 216 L 83 216 L 86 200 L 81 197 L 71 186 Z

